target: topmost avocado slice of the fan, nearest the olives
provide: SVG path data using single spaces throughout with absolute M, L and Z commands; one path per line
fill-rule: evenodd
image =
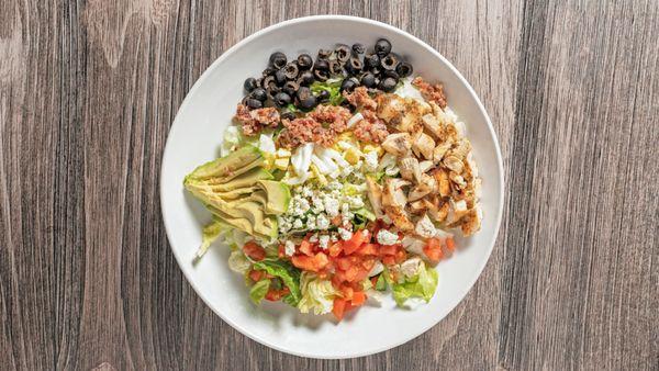
M 228 180 L 257 166 L 261 166 L 264 162 L 265 158 L 258 148 L 244 146 L 228 156 L 217 158 L 198 167 L 186 177 L 185 183 L 189 179 L 220 178 Z

